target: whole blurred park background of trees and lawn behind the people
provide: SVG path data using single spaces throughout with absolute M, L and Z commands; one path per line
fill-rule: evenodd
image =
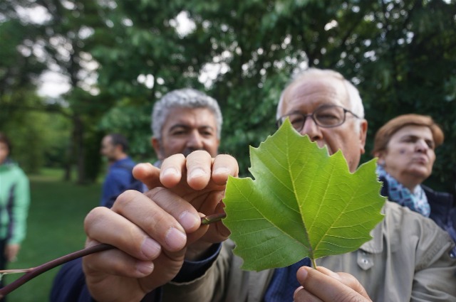
M 237 157 L 245 175 L 249 145 L 276 130 L 290 76 L 309 66 L 338 70 L 365 105 L 363 161 L 383 123 L 429 114 L 446 137 L 425 184 L 455 193 L 455 4 L 1 0 L 0 131 L 13 139 L 12 156 L 32 181 L 29 232 L 15 266 L 83 247 L 82 220 L 98 205 L 105 173 L 100 140 L 119 132 L 135 161 L 154 161 L 152 105 L 182 87 L 218 100 L 219 151 Z M 25 296 L 14 301 L 46 301 L 52 276 L 19 288 L 14 295 Z

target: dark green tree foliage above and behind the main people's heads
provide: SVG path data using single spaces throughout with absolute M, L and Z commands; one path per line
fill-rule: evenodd
M 105 14 L 113 35 L 92 51 L 100 89 L 138 102 L 187 85 L 207 90 L 224 115 L 221 149 L 244 172 L 247 145 L 274 131 L 281 89 L 308 65 L 336 69 L 358 85 L 371 125 L 367 150 L 374 131 L 405 112 L 433 115 L 454 140 L 454 1 L 116 3 Z M 138 75 L 152 75 L 153 87 Z M 438 150 L 434 173 L 445 182 L 449 146 Z

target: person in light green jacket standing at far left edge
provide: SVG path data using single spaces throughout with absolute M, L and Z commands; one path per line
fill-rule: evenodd
M 11 161 L 11 143 L 0 133 L 0 270 L 15 261 L 26 235 L 26 219 L 30 204 L 28 178 Z M 0 284 L 1 286 L 1 284 Z

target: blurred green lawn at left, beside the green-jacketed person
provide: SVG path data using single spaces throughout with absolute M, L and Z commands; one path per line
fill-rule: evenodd
M 31 205 L 28 212 L 27 237 L 22 243 L 18 261 L 9 269 L 38 266 L 84 247 L 83 220 L 100 200 L 99 184 L 76 185 L 61 181 L 61 171 L 46 170 L 42 175 L 29 176 Z M 52 269 L 8 295 L 9 301 L 41 302 L 49 300 L 54 276 Z M 21 274 L 5 276 L 6 283 Z

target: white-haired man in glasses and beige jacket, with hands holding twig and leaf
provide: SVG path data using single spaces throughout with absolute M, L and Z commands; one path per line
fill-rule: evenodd
M 277 114 L 279 123 L 290 117 L 296 131 L 329 153 L 340 149 L 356 171 L 367 122 L 356 88 L 340 74 L 304 72 L 284 90 Z M 78 280 L 95 301 L 456 301 L 452 239 L 396 203 L 385 203 L 371 241 L 319 259 L 326 269 L 311 269 L 302 259 L 281 269 L 242 271 L 227 228 L 202 226 L 199 219 L 223 211 L 224 185 L 238 173 L 234 158 L 195 151 L 166 158 L 160 171 L 142 164 L 134 172 L 149 193 L 121 195 L 111 210 L 86 217 L 88 246 L 118 247 L 83 261 L 85 279 Z M 73 284 L 73 293 L 87 289 Z

